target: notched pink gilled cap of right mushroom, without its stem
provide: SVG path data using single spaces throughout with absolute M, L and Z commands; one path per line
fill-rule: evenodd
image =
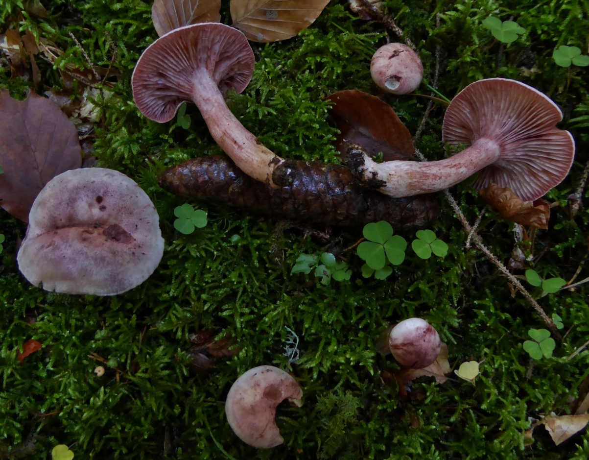
M 499 158 L 483 168 L 475 188 L 509 187 L 524 201 L 540 198 L 567 176 L 575 143 L 556 124 L 562 112 L 540 91 L 515 80 L 489 78 L 468 85 L 452 100 L 442 140 L 472 145 L 494 141 Z

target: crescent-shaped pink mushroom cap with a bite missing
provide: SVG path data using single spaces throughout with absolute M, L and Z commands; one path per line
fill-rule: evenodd
M 286 398 L 300 406 L 302 397 L 303 390 L 284 370 L 258 366 L 243 373 L 229 389 L 227 421 L 241 441 L 269 449 L 284 442 L 274 421 L 276 406 Z

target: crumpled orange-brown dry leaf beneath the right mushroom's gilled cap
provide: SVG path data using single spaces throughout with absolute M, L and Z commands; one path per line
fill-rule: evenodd
M 502 219 L 511 220 L 520 225 L 528 225 L 537 229 L 548 229 L 550 206 L 546 201 L 522 201 L 509 187 L 491 184 L 487 188 L 479 188 L 479 195 L 492 207 L 499 211 Z

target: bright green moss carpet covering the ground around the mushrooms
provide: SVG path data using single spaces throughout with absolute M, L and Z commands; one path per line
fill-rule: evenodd
M 166 251 L 147 282 L 116 297 L 67 296 L 29 286 L 14 260 L 25 225 L 0 214 L 6 236 L 0 266 L 0 458 L 27 444 L 36 433 L 32 458 L 48 458 L 56 444 L 67 444 L 76 458 L 227 458 L 217 446 L 244 458 L 408 459 L 585 459 L 585 432 L 556 447 L 544 428 L 524 447 L 530 418 L 570 413 L 570 401 L 587 378 L 589 352 L 568 360 L 589 333 L 587 287 L 539 299 L 548 315 L 558 313 L 570 332 L 555 357 L 530 369 L 521 345 L 531 327 L 544 327 L 519 294 L 482 253 L 465 249 L 466 235 L 442 201 L 436 235 L 450 248 L 444 259 L 422 260 L 408 250 L 388 280 L 363 279 L 362 260 L 348 251 L 350 282 L 319 284 L 313 274 L 292 274 L 302 253 L 325 250 L 299 230 L 280 231 L 271 219 L 247 216 L 201 203 L 209 224 L 193 234 L 173 229 L 173 210 L 184 203 L 157 186 L 158 171 L 197 155 L 220 153 L 193 105 L 190 130 L 146 120 L 133 104 L 130 77 L 135 61 L 156 34 L 149 2 L 44 2 L 47 18 L 18 13 L 22 2 L 0 6 L 0 25 L 29 29 L 51 39 L 64 55 L 55 66 L 38 59 L 42 84 L 61 88 L 57 68 L 87 66 L 72 32 L 95 65 L 120 71 L 112 97 L 97 101 L 104 121 L 95 131 L 100 166 L 123 171 L 140 183 L 160 214 Z M 332 92 L 358 88 L 377 94 L 370 80 L 373 49 L 386 41 L 382 25 L 349 13 L 348 2 L 332 1 L 307 31 L 276 44 L 254 44 L 256 71 L 244 94 L 229 104 L 242 123 L 274 151 L 289 158 L 339 161 L 335 128 L 322 101 Z M 550 230 L 535 235 L 534 269 L 541 276 L 571 279 L 586 259 L 589 211 L 574 220 L 567 197 L 587 162 L 587 69 L 570 70 L 552 61 L 561 44 L 586 49 L 587 12 L 573 0 L 428 3 L 385 2 L 406 35 L 419 45 L 429 82 L 435 78 L 440 48 L 439 90 L 452 97 L 479 78 L 516 78 L 548 92 L 565 115 L 562 128 L 577 141 L 570 177 L 548 194 Z M 227 15 L 224 4 L 224 15 Z M 439 14 L 439 26 L 436 26 Z M 494 43 L 481 21 L 489 15 L 514 16 L 526 29 L 510 45 Z M 393 40 L 396 37 L 391 36 Z M 499 56 L 501 55 L 501 58 Z M 526 60 L 527 59 L 527 60 Z M 0 66 L 0 88 L 25 96 L 30 82 L 10 80 Z M 423 94 L 429 94 L 420 88 Z M 428 100 L 383 96 L 415 133 Z M 417 147 L 430 159 L 444 157 L 441 123 L 434 108 Z M 574 120 L 571 120 L 573 119 Z M 454 187 L 473 222 L 483 203 L 468 183 Z M 585 193 L 585 201 L 587 194 Z M 585 205 L 587 203 L 585 202 Z M 514 239 L 511 225 L 485 211 L 481 234 L 503 262 Z M 395 233 L 397 233 L 395 231 Z M 231 236 L 240 239 L 232 241 Z M 348 247 L 361 229 L 332 229 L 335 246 Z M 403 235 L 413 239 L 413 234 Z M 332 248 L 330 248 L 332 249 Z M 516 274 L 522 274 L 516 271 Z M 578 280 L 587 277 L 581 267 Z M 411 397 L 400 398 L 381 372 L 397 367 L 375 352 L 374 343 L 389 324 L 409 316 L 432 323 L 448 343 L 455 367 L 481 363 L 473 386 L 452 379 L 435 385 L 422 378 Z M 300 337 L 300 359 L 283 355 L 287 326 Z M 188 372 L 190 333 L 213 330 L 233 337 L 234 358 L 219 359 L 209 377 Z M 26 340 L 44 348 L 22 365 L 17 353 Z M 277 422 L 285 444 L 257 451 L 239 442 L 224 419 L 223 401 L 237 376 L 253 366 L 292 369 L 305 391 L 302 408 L 280 406 Z M 97 366 L 105 374 L 94 373 Z M 530 372 L 531 370 L 531 372 Z M 528 378 L 529 377 L 529 378 Z

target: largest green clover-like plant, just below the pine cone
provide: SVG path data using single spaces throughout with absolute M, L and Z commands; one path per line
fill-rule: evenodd
M 368 240 L 362 241 L 356 250 L 360 259 L 366 261 L 362 266 L 362 276 L 369 277 L 379 272 L 379 276 L 375 274 L 375 277 L 385 279 L 392 273 L 391 267 L 385 270 L 387 260 L 393 265 L 401 264 L 405 260 L 407 241 L 402 236 L 393 235 L 393 227 L 383 220 L 366 224 L 362 233 Z

